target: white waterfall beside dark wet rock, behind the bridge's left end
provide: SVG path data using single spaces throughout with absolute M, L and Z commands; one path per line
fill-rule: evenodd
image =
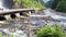
M 13 0 L 0 0 L 0 9 L 12 9 Z

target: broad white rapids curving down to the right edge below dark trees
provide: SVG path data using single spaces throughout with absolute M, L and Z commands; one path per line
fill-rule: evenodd
M 44 11 L 45 15 L 48 15 L 48 16 L 55 18 L 55 20 L 66 20 L 66 16 L 57 15 L 55 13 L 52 13 L 50 10 L 51 9 L 47 9 L 47 10 Z

